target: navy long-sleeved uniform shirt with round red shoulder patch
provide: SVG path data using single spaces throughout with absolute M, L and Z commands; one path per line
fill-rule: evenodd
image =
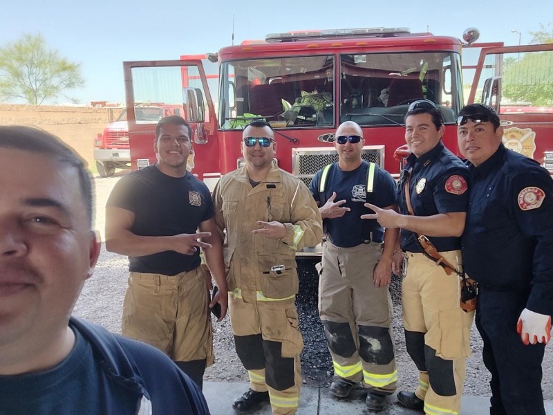
M 529 295 L 527 308 L 553 308 L 553 180 L 538 163 L 503 145 L 469 167 L 471 194 L 462 235 L 465 271 L 480 286 Z

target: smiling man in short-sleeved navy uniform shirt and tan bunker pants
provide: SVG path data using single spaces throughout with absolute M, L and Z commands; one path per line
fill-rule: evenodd
M 368 205 L 375 214 L 365 216 L 386 229 L 402 229 L 405 341 L 420 374 L 415 392 L 400 391 L 397 400 L 433 415 L 460 412 L 474 316 L 472 299 L 460 301 L 462 294 L 465 299 L 460 282 L 467 281 L 460 236 L 467 216 L 468 170 L 444 147 L 444 131 L 442 114 L 433 102 L 411 104 L 405 116 L 411 154 L 396 198 L 401 213 Z

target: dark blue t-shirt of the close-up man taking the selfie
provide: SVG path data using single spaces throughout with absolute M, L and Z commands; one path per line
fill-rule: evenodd
M 110 382 L 93 358 L 91 344 L 78 331 L 75 345 L 59 365 L 48 371 L 0 376 L 1 415 L 134 414 L 136 402 L 111 400 L 100 385 Z

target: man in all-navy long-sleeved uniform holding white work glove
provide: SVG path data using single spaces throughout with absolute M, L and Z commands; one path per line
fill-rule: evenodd
M 476 326 L 491 372 L 491 415 L 545 415 L 541 362 L 553 307 L 553 181 L 503 146 L 490 107 L 458 118 L 471 195 L 462 236 L 465 270 L 479 284 Z

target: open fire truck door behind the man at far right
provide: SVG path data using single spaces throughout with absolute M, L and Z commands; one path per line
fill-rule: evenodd
M 553 44 L 482 48 L 469 103 L 498 111 L 503 143 L 553 172 Z

